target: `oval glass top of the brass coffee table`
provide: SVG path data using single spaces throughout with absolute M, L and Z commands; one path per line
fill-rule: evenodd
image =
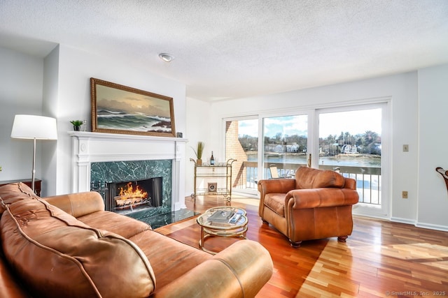
M 220 217 L 223 217 L 223 219 L 214 221 L 214 214 L 215 216 L 219 215 Z M 235 223 L 230 223 L 230 218 L 235 214 L 241 214 L 241 216 L 239 216 Z M 225 218 L 229 218 L 229 221 L 226 221 Z M 208 209 L 204 214 L 199 216 L 197 218 L 197 223 L 204 228 L 214 230 L 235 230 L 247 225 L 246 210 L 237 207 L 214 207 Z

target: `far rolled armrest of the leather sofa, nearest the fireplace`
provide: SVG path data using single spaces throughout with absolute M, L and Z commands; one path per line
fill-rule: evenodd
M 104 211 L 103 198 L 95 191 L 55 195 L 43 198 L 43 200 L 76 218 L 93 212 Z

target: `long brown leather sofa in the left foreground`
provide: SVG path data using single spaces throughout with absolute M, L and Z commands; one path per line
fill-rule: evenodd
M 0 202 L 0 297 L 255 297 L 272 276 L 258 242 L 211 255 L 104 211 L 98 193 L 8 184 Z

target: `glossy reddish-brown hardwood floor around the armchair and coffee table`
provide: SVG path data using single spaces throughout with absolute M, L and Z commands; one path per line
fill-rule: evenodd
M 225 205 L 216 197 L 186 198 L 188 209 L 203 212 Z M 248 239 L 265 246 L 274 274 L 257 297 L 448 297 L 448 232 L 355 216 L 346 244 L 335 238 L 304 241 L 300 248 L 258 216 L 258 200 L 232 197 L 248 215 Z M 195 218 L 157 229 L 198 246 Z M 209 239 L 219 251 L 237 239 Z

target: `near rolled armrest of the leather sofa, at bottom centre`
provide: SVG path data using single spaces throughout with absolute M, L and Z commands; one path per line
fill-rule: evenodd
M 272 258 L 261 244 L 240 240 L 155 292 L 153 297 L 255 297 L 271 278 L 272 270 Z

